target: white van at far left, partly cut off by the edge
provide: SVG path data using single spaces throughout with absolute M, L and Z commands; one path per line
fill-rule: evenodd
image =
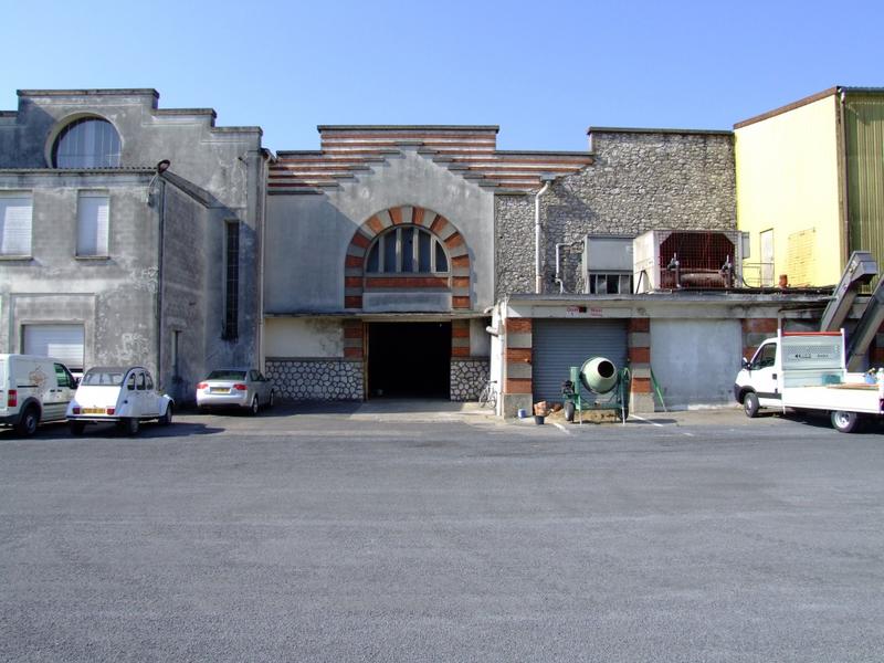
M 33 435 L 39 423 L 64 421 L 76 380 L 49 357 L 0 355 L 0 427 Z

